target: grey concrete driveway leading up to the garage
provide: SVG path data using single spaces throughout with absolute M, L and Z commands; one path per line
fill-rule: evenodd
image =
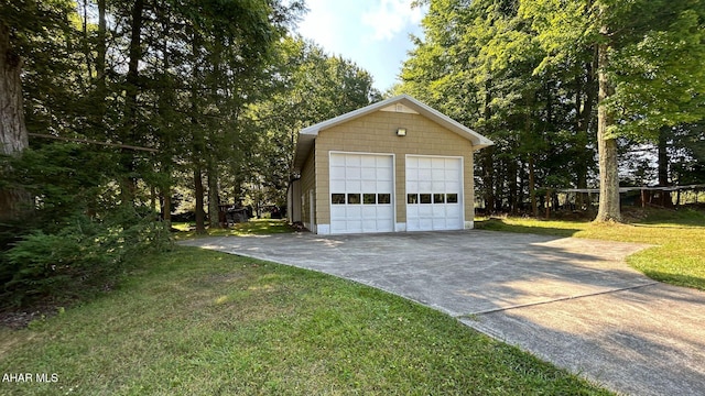
M 403 296 L 620 393 L 705 394 L 705 293 L 627 266 L 644 245 L 477 230 L 183 244 Z

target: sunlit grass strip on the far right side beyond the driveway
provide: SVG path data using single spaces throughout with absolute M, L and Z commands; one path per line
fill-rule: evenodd
M 703 211 L 636 211 L 629 213 L 629 222 L 626 224 L 506 218 L 476 221 L 476 227 L 494 231 L 652 244 L 654 248 L 627 257 L 627 263 L 653 279 L 705 290 Z

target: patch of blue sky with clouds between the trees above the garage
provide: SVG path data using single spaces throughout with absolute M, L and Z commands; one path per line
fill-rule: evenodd
M 381 91 L 390 88 L 412 48 L 409 34 L 422 36 L 425 9 L 412 0 L 306 0 L 308 12 L 299 33 L 332 55 L 351 59 L 375 78 Z

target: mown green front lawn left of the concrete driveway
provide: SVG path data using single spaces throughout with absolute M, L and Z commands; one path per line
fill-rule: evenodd
M 148 255 L 119 289 L 0 329 L 3 395 L 600 395 L 403 298 L 195 248 Z

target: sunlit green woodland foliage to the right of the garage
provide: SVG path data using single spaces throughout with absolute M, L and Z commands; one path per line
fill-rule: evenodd
M 420 3 L 430 7 L 424 37 L 414 40 L 397 92 L 496 142 L 476 161 L 476 186 L 490 211 L 525 211 L 538 187 L 598 185 L 600 73 L 616 89 L 600 103 L 614 119 L 609 136 L 655 142 L 661 127 L 690 129 L 705 117 L 699 0 Z M 604 69 L 596 56 L 600 44 L 609 55 Z M 680 180 L 696 179 L 691 176 L 701 164 L 690 148 L 697 134 L 687 140 L 672 141 L 672 154 L 682 158 L 673 169 L 688 174 Z

